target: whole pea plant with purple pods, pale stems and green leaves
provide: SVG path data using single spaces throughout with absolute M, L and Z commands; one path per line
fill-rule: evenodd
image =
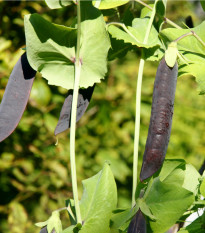
M 69 90 L 55 135 L 70 128 L 73 199 L 67 200 L 65 207 L 54 210 L 47 221 L 36 223 L 41 227 L 39 231 L 164 233 L 178 224 L 181 233 L 205 232 L 205 214 L 183 227 L 188 216 L 205 207 L 204 169 L 199 173 L 184 160 L 165 160 L 177 79 L 194 76 L 199 93 L 205 94 L 205 22 L 197 27 L 181 28 L 165 17 L 167 0 L 155 0 L 152 4 L 141 0 L 46 0 L 46 3 L 51 9 L 75 4 L 76 20 L 66 27 L 53 24 L 39 14 L 25 16 L 26 52 L 11 73 L 0 105 L 0 141 L 3 141 L 22 117 L 36 72 L 49 85 Z M 133 17 L 131 24 L 120 17 L 117 22 L 105 22 L 104 9 L 114 8 L 118 14 L 117 7 L 124 4 L 130 4 L 130 8 L 141 5 L 140 16 Z M 203 1 L 201 4 L 205 8 Z M 82 181 L 84 191 L 79 200 L 75 132 L 76 122 L 85 113 L 95 85 L 107 73 L 107 60 L 123 56 L 128 50 L 141 54 L 136 77 L 132 206 L 118 209 L 117 187 L 108 162 L 99 173 Z M 140 103 L 146 61 L 159 62 L 159 66 L 138 182 Z M 60 220 L 61 211 L 69 215 L 65 229 Z

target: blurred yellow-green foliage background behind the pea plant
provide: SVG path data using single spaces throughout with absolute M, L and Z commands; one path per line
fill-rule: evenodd
M 128 5 L 119 8 L 124 17 Z M 134 15 L 139 15 L 136 4 Z M 205 18 L 198 1 L 168 2 L 167 17 L 183 26 L 187 16 L 194 25 Z M 75 6 L 50 10 L 43 1 L 0 1 L 0 100 L 8 77 L 25 47 L 25 14 L 43 15 L 51 22 L 70 25 Z M 116 20 L 116 11 L 104 12 Z M 184 26 L 183 26 L 184 27 Z M 135 88 L 138 53 L 109 62 L 109 72 L 96 85 L 93 98 L 77 124 L 76 162 L 80 194 L 81 181 L 96 174 L 110 161 L 117 187 L 119 207 L 129 206 L 132 189 L 132 154 L 135 119 Z M 145 65 L 139 169 L 149 126 L 157 63 Z M 39 74 L 34 81 L 27 109 L 15 132 L 0 144 L 0 232 L 37 233 L 35 222 L 45 221 L 55 209 L 72 198 L 69 163 L 69 131 L 54 136 L 67 91 L 48 86 Z M 205 97 L 197 93 L 193 77 L 178 80 L 173 128 L 167 158 L 183 158 L 200 168 L 205 158 Z M 66 213 L 63 224 L 68 224 Z

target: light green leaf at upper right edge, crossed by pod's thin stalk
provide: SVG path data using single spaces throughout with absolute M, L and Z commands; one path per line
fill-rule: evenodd
M 205 41 L 205 21 L 193 31 Z M 168 44 L 180 36 L 190 32 L 189 29 L 164 29 L 160 36 L 165 44 Z M 177 47 L 184 58 L 191 64 L 181 62 L 179 66 L 179 77 L 182 75 L 193 75 L 199 86 L 200 94 L 205 94 L 205 46 L 203 46 L 194 36 L 188 36 L 177 42 Z

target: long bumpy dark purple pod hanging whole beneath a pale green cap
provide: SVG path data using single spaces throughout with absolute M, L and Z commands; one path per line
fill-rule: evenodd
M 157 172 L 165 159 L 171 134 L 177 75 L 177 63 L 170 68 L 163 58 L 158 66 L 154 83 L 150 125 L 140 173 L 141 181 Z

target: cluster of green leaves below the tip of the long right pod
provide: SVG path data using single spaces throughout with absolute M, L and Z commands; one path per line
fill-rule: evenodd
M 129 220 L 140 208 L 147 216 L 151 232 L 164 233 L 191 207 L 199 189 L 200 175 L 183 160 L 165 160 L 158 176 L 150 179 L 143 197 L 131 210 L 118 210 L 113 227 L 126 231 Z M 165 214 L 166 213 L 166 214 Z

